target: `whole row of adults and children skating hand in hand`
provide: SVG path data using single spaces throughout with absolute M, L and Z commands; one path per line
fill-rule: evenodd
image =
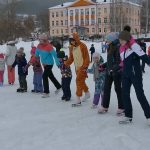
M 144 94 L 143 78 L 145 63 L 150 66 L 150 47 L 146 54 L 144 40 L 136 41 L 130 33 L 131 27 L 125 26 L 124 30 L 111 32 L 106 36 L 107 60 L 104 62 L 99 52 L 95 52 L 94 44 L 90 53 L 87 46 L 80 41 L 78 33 L 74 32 L 69 38 L 69 56 L 63 49 L 55 51 L 53 42 L 49 42 L 48 35 L 39 36 L 39 44 L 31 45 L 31 57 L 27 62 L 24 48 L 17 50 L 15 41 L 7 43 L 6 53 L 0 52 L 0 86 L 3 87 L 5 64 L 8 72 L 8 83 L 15 82 L 15 67 L 18 67 L 19 88 L 17 92 L 27 92 L 28 68 L 33 66 L 33 90 L 32 93 L 41 93 L 42 98 L 50 95 L 49 79 L 56 87 L 55 94 L 63 92 L 63 101 L 71 100 L 70 84 L 72 71 L 70 65 L 74 63 L 76 72 L 76 102 L 72 107 L 82 106 L 84 101 L 90 99 L 89 88 L 86 84 L 88 75 L 93 75 L 95 92 L 92 101 L 92 109 L 98 108 L 99 114 L 105 114 L 109 110 L 111 88 L 114 89 L 118 100 L 116 115 L 122 116 L 120 124 L 130 124 L 133 119 L 133 109 L 130 98 L 133 85 L 137 99 L 144 111 L 144 115 L 150 126 L 150 105 Z M 90 62 L 92 63 L 89 67 Z M 54 63 L 61 72 L 61 84 L 55 78 L 52 68 Z M 82 97 L 84 93 L 84 96 Z M 98 107 L 100 105 L 100 107 Z

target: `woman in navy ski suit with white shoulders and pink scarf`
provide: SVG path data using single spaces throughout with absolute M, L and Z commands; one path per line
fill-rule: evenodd
M 142 70 L 140 68 L 140 59 L 150 66 L 150 58 L 141 49 L 141 47 L 133 40 L 131 34 L 122 31 L 119 35 L 121 43 L 120 56 L 123 61 L 122 69 L 122 99 L 125 108 L 125 117 L 119 121 L 120 124 L 128 124 L 132 122 L 133 109 L 130 98 L 131 86 L 133 85 L 137 99 L 150 125 L 150 105 L 144 94 Z

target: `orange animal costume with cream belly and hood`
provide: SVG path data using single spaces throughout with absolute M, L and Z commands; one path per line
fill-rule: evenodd
M 86 69 L 90 64 L 90 58 L 87 46 L 80 41 L 80 38 L 76 32 L 73 33 L 73 39 L 76 42 L 76 46 L 70 45 L 69 47 L 69 59 L 65 62 L 66 66 L 70 66 L 73 62 L 76 69 L 76 95 L 81 97 L 83 91 L 88 92 L 88 87 L 85 83 L 87 78 Z

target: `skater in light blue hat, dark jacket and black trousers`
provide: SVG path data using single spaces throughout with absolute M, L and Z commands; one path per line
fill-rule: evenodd
M 121 70 L 120 70 L 120 54 L 119 54 L 119 40 L 117 40 L 116 33 L 110 33 L 106 37 L 108 43 L 107 62 L 101 67 L 106 68 L 106 77 L 104 85 L 104 96 L 102 106 L 98 113 L 106 113 L 110 104 L 110 94 L 112 83 L 114 82 L 115 92 L 118 99 L 117 115 L 124 113 L 123 101 L 121 98 Z

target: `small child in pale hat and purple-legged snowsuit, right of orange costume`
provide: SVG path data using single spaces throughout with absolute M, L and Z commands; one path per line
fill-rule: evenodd
M 95 92 L 93 98 L 93 105 L 92 108 L 96 108 L 99 104 L 99 100 L 103 98 L 103 88 L 104 88 L 104 81 L 105 81 L 105 70 L 99 71 L 99 67 L 102 63 L 104 63 L 104 59 L 100 56 L 99 53 L 95 52 L 93 54 L 93 65 L 91 69 L 88 69 L 88 73 L 93 74 L 93 78 L 95 81 Z

